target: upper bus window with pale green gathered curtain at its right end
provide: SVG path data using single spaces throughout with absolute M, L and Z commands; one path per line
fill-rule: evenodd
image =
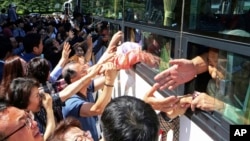
M 180 27 L 182 0 L 92 0 L 86 11 L 92 16 L 139 24 Z M 86 5 L 86 4 L 84 4 Z

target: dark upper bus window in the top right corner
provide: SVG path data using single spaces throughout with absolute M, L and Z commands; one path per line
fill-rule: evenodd
M 189 0 L 185 14 L 189 32 L 249 42 L 249 0 Z

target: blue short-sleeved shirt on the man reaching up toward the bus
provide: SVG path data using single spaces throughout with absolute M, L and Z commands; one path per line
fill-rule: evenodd
M 94 103 L 94 97 L 92 93 L 94 92 L 94 83 L 92 81 L 91 85 L 87 90 L 87 97 L 81 95 L 73 95 L 66 102 L 65 106 L 62 108 L 63 117 L 74 117 L 81 122 L 82 129 L 87 131 L 89 130 L 92 134 L 94 141 L 98 141 L 98 132 L 96 129 L 97 117 L 81 117 L 80 109 L 82 104 L 86 102 Z

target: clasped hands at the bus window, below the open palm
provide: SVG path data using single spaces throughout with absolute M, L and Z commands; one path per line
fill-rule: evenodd
M 206 93 L 195 92 L 183 96 L 169 96 L 165 98 L 156 98 L 154 92 L 159 86 L 154 85 L 144 96 L 144 101 L 149 103 L 155 110 L 162 111 L 173 119 L 183 115 L 188 108 L 195 111 L 199 108 L 204 111 L 223 110 L 224 103 L 218 99 L 207 95 Z

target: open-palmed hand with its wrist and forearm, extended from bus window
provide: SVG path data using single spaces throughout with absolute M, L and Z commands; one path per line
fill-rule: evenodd
M 201 56 L 197 56 L 192 60 L 174 59 L 170 60 L 169 63 L 172 65 L 170 68 L 154 77 L 156 86 L 161 90 L 165 88 L 172 90 L 192 80 L 197 74 L 207 71 L 208 54 L 205 53 Z

